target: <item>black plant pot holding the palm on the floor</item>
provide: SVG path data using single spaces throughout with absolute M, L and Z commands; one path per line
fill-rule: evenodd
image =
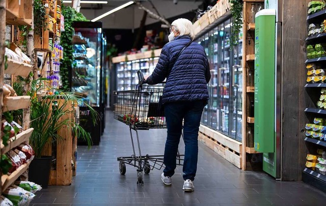
M 29 181 L 41 185 L 43 189 L 47 188 L 50 178 L 51 156 L 42 156 L 34 158 L 29 168 Z

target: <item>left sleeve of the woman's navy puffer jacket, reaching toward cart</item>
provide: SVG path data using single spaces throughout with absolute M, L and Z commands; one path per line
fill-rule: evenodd
M 161 54 L 153 73 L 146 79 L 149 85 L 158 84 L 168 76 L 170 52 L 166 46 L 162 48 Z

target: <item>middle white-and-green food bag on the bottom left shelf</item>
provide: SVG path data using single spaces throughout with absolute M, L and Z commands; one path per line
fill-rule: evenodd
M 29 205 L 35 194 L 26 191 L 16 185 L 7 188 L 3 195 L 7 197 L 15 206 L 16 205 Z

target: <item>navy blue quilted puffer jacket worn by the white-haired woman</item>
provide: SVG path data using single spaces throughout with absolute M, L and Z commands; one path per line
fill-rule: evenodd
M 197 42 L 193 42 L 176 60 L 181 49 L 189 41 L 191 41 L 189 36 L 178 36 L 167 43 L 162 48 L 152 75 L 147 78 L 147 83 L 151 85 L 167 78 L 162 103 L 208 100 L 209 98 L 207 83 L 210 80 L 210 70 L 204 48 Z M 173 68 L 170 69 L 172 66 Z

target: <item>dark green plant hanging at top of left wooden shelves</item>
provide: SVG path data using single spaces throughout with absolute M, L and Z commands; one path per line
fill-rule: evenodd
M 45 19 L 47 18 L 46 10 L 43 5 L 42 0 L 34 0 L 34 34 L 41 35 L 42 30 L 46 28 L 47 23 Z

